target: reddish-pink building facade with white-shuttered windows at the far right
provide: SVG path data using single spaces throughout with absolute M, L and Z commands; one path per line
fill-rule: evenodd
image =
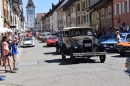
M 130 28 L 130 0 L 113 0 L 114 28 Z

